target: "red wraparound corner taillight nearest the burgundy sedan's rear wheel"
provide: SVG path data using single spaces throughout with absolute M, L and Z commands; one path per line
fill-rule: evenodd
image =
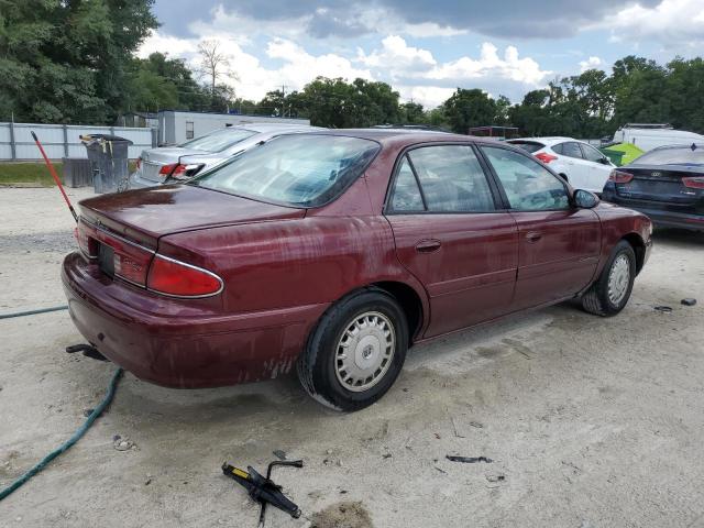
M 154 255 L 146 287 L 177 297 L 208 297 L 222 290 L 222 280 L 207 270 Z

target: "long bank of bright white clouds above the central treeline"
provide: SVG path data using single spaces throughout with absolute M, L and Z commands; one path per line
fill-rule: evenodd
M 239 97 L 260 100 L 267 91 L 287 86 L 287 91 L 300 90 L 317 76 L 361 77 L 389 82 L 404 100 L 413 99 L 427 108 L 442 103 L 455 87 L 482 88 L 491 94 L 520 97 L 528 88 L 542 86 L 551 72 L 542 70 L 530 57 L 520 58 L 518 50 L 508 46 L 499 55 L 491 44 L 482 45 L 479 57 L 462 56 L 439 63 L 428 50 L 410 46 L 398 35 L 388 35 L 381 47 L 370 53 L 358 48 L 356 56 L 342 53 L 314 55 L 293 40 L 276 37 L 254 55 L 250 47 L 218 30 L 202 34 L 216 40 L 229 59 L 235 75 L 223 79 L 234 87 Z M 139 51 L 147 56 L 154 51 L 168 52 L 184 58 L 194 69 L 199 66 L 199 40 L 177 38 L 154 32 Z M 261 58 L 272 59 L 275 67 L 264 66 Z

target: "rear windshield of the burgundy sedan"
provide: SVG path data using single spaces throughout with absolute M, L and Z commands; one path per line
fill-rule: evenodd
M 213 190 L 294 207 L 337 198 L 380 150 L 378 143 L 340 135 L 282 135 L 190 182 Z

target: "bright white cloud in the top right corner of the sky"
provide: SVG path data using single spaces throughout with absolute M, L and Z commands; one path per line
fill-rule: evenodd
M 662 0 L 652 8 L 636 3 L 585 29 L 608 29 L 612 42 L 657 41 L 672 51 L 700 53 L 704 45 L 704 2 Z

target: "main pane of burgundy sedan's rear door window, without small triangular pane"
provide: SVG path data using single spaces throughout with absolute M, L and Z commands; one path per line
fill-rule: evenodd
M 494 198 L 469 145 L 437 145 L 408 153 L 431 212 L 493 211 Z

